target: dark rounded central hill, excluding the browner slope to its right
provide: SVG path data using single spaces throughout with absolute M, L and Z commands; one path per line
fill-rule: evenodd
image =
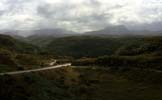
M 59 56 L 97 57 L 114 54 L 129 40 L 131 41 L 127 38 L 72 36 L 54 39 L 46 46 L 46 51 Z

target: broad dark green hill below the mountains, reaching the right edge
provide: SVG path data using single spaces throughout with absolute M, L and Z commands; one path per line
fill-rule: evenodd
M 159 54 L 162 37 L 73 36 L 54 39 L 46 46 L 52 54 L 72 57 Z

